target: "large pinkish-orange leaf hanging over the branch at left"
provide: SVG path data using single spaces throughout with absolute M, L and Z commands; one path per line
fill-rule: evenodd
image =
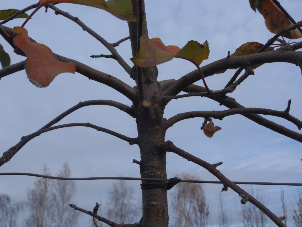
M 25 28 L 14 27 L 12 31 L 17 33 L 14 44 L 27 56 L 25 70 L 27 77 L 34 85 L 47 87 L 58 74 L 75 73 L 76 63 L 56 60 L 50 48 L 29 39 Z

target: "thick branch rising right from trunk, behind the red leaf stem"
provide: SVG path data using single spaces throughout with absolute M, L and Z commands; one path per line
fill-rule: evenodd
M 298 22 L 294 26 L 291 26 L 288 29 L 285 29 L 279 32 L 277 35 L 278 37 L 284 34 L 287 31 L 291 31 L 297 27 L 302 26 L 302 21 Z M 275 36 L 277 36 L 275 35 Z M 274 37 L 275 37 L 274 36 Z M 277 38 L 278 38 L 277 37 Z M 284 49 L 277 49 L 275 51 L 268 51 L 262 52 L 257 54 L 249 54 L 244 56 L 237 56 L 237 57 L 229 57 L 223 58 L 218 61 L 214 61 L 210 64 L 207 64 L 201 67 L 201 71 L 204 74 L 204 77 L 208 77 L 214 75 L 217 72 L 230 69 L 230 68 L 245 68 L 248 65 L 255 65 L 255 64 L 264 64 L 264 63 L 271 63 L 271 62 L 288 62 L 295 65 L 298 65 L 302 68 L 302 55 L 300 52 L 295 52 L 298 46 L 290 45 L 289 46 L 293 51 L 284 50 Z M 301 48 L 301 47 L 299 47 Z M 179 78 L 175 83 L 169 86 L 167 89 L 162 91 L 161 97 L 165 96 L 173 96 L 177 95 L 179 92 L 184 90 L 189 85 L 193 84 L 196 81 L 200 80 L 200 74 L 198 70 L 194 70 L 185 76 Z

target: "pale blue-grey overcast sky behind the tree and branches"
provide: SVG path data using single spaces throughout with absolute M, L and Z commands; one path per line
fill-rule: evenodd
M 37 0 L 2 0 L 1 9 L 23 9 Z M 281 4 L 296 20 L 300 21 L 301 2 L 282 1 Z M 286 5 L 285 5 L 286 2 Z M 97 8 L 59 4 L 60 9 L 79 17 L 108 42 L 116 42 L 129 35 L 127 22 L 120 21 L 111 14 Z M 146 1 L 146 15 L 149 37 L 159 37 L 165 45 L 182 48 L 188 41 L 208 41 L 209 59 L 202 65 L 225 58 L 227 52 L 248 41 L 264 44 L 273 36 L 264 24 L 264 19 L 249 7 L 248 0 L 231 1 Z M 6 26 L 20 26 L 24 19 L 10 21 Z M 93 54 L 109 54 L 98 41 L 69 19 L 40 9 L 25 28 L 29 36 L 46 44 L 54 53 L 75 59 L 99 71 L 111 74 L 131 86 L 132 79 L 112 59 L 90 58 Z M 11 47 L 0 38 L 0 43 L 11 56 L 11 63 L 25 60 L 16 56 Z M 117 51 L 131 65 L 130 41 L 117 47 Z M 195 69 L 190 62 L 173 59 L 158 65 L 158 80 L 178 79 Z M 207 77 L 207 85 L 212 90 L 222 89 L 233 76 L 234 70 Z M 203 85 L 201 81 L 196 84 Z M 262 65 L 240 84 L 230 97 L 245 107 L 261 107 L 284 110 L 292 100 L 290 113 L 302 119 L 302 79 L 299 67 L 289 63 Z M 110 99 L 131 106 L 130 100 L 115 90 L 88 80 L 80 74 L 60 74 L 47 88 L 37 88 L 31 84 L 25 71 L 4 77 L 0 81 L 0 148 L 1 153 L 19 142 L 22 136 L 33 133 L 54 117 L 77 104 L 79 101 Z M 165 118 L 177 113 L 193 110 L 224 110 L 217 102 L 201 97 L 172 100 L 165 109 Z M 277 123 L 299 132 L 297 127 L 277 117 L 268 117 Z M 122 111 L 108 106 L 83 107 L 64 118 L 59 124 L 90 122 L 100 127 L 114 130 L 128 137 L 136 137 L 135 120 Z M 171 140 L 183 150 L 209 162 L 223 162 L 219 170 L 233 181 L 301 183 L 301 144 L 295 140 L 266 129 L 243 116 L 230 116 L 214 124 L 222 130 L 214 137 L 207 138 L 200 130 L 203 119 L 189 119 L 175 124 L 167 131 L 166 140 Z M 40 173 L 43 164 L 53 175 L 68 161 L 72 176 L 127 176 L 140 177 L 139 166 L 132 163 L 140 160 L 137 145 L 129 146 L 125 141 L 90 128 L 72 127 L 43 133 L 27 143 L 0 172 Z M 205 169 L 183 158 L 168 153 L 168 178 L 179 173 L 192 173 L 203 180 L 217 180 Z M 30 176 L 0 176 L 0 193 L 7 193 L 13 202 L 26 200 L 27 191 L 36 178 Z M 140 197 L 140 182 L 129 182 Z M 107 191 L 112 181 L 77 182 L 77 194 L 72 203 L 92 210 L 95 202 L 102 203 L 106 210 Z M 243 186 L 251 191 L 250 186 Z M 288 223 L 292 224 L 291 210 L 299 187 L 295 186 L 255 186 L 263 191 L 268 207 L 276 215 L 282 216 L 280 190 L 284 189 L 287 200 Z M 208 196 L 212 219 L 217 224 L 217 196 L 221 185 L 204 185 Z M 173 189 L 172 189 L 173 190 Z M 172 191 L 171 190 L 171 191 Z M 170 193 L 170 192 L 169 192 Z M 221 193 L 228 204 L 233 223 L 240 222 L 236 213 L 240 197 L 232 190 Z M 172 214 L 172 212 L 171 212 Z M 88 224 L 88 217 L 81 215 L 82 225 Z

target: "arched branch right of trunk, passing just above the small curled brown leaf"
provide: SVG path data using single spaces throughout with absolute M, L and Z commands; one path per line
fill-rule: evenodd
M 174 117 L 171 117 L 168 119 L 167 122 L 167 128 L 171 127 L 175 123 L 189 119 L 194 117 L 213 117 L 215 119 L 222 120 L 226 116 L 235 115 L 235 114 L 245 114 L 245 113 L 254 113 L 254 114 L 264 114 L 264 115 L 271 115 L 275 117 L 281 117 L 284 118 L 292 123 L 294 123 L 298 129 L 300 130 L 302 127 L 302 121 L 299 119 L 291 116 L 288 111 L 278 111 L 278 110 L 271 110 L 271 109 L 263 109 L 263 108 L 248 108 L 248 107 L 239 107 L 239 108 L 233 108 L 229 110 L 220 110 L 220 111 L 190 111 L 185 113 L 178 113 Z M 302 134 L 301 134 L 302 136 Z

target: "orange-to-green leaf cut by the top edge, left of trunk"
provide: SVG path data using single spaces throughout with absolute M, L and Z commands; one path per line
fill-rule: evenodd
M 49 3 L 74 3 L 103 9 L 124 21 L 136 21 L 131 0 L 40 0 L 43 5 Z

